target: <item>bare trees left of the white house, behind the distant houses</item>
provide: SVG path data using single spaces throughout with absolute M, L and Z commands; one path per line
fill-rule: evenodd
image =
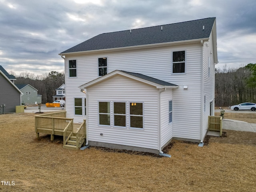
M 52 96 L 56 95 L 56 89 L 65 83 L 64 72 L 52 71 L 48 74 L 35 75 L 29 72 L 21 72 L 20 75 L 16 75 L 14 72 L 10 72 L 16 77 L 15 84 L 30 84 L 38 90 L 38 94 L 42 95 L 42 103 L 53 102 Z

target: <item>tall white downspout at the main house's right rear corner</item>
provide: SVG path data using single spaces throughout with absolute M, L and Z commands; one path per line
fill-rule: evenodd
M 203 115 L 204 115 L 204 42 L 201 40 L 201 131 L 200 131 L 200 144 L 198 144 L 199 147 L 204 146 L 203 141 Z

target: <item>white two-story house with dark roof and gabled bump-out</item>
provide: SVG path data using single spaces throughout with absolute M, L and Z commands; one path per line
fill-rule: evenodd
M 86 145 L 162 153 L 203 142 L 214 115 L 216 18 L 103 33 L 60 55 Z

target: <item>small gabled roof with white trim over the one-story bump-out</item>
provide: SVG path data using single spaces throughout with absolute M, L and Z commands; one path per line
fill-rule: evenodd
M 102 76 L 102 77 L 99 77 L 95 80 L 92 80 L 92 81 L 90 81 L 86 84 L 81 85 L 79 88 L 83 89 L 83 88 L 92 86 L 92 85 L 94 85 L 98 82 L 101 82 L 103 80 L 111 78 L 112 76 L 115 76 L 117 74 L 122 75 L 122 76 L 126 76 L 126 77 L 134 79 L 134 80 L 138 80 L 140 82 L 144 82 L 144 83 L 152 85 L 152 86 L 156 86 L 156 88 L 178 88 L 178 85 L 175 85 L 175 84 L 172 84 L 172 83 L 169 83 L 169 82 L 166 82 L 166 81 L 162 81 L 162 80 L 159 80 L 159 79 L 156 79 L 156 78 L 152 78 L 150 76 L 146 76 L 146 75 L 139 74 L 139 73 L 120 71 L 120 70 L 115 70 L 111 73 L 108 73 L 108 74 Z

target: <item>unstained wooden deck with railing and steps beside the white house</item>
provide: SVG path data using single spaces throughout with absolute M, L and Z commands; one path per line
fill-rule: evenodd
M 35 116 L 36 137 L 39 134 L 50 134 L 51 140 L 54 135 L 63 136 L 63 147 L 79 149 L 86 138 L 86 120 L 77 124 L 72 118 L 66 118 L 66 111 Z

